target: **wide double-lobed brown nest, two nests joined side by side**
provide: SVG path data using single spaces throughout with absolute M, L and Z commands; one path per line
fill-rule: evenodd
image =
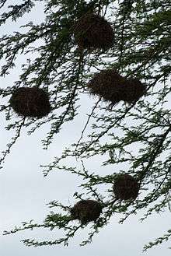
M 145 85 L 138 79 L 126 79 L 114 69 L 102 70 L 87 84 L 89 93 L 110 101 L 112 105 L 124 100 L 134 103 L 145 95 Z

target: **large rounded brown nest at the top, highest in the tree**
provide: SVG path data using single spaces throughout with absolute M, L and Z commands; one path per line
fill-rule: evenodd
M 108 49 L 113 45 L 114 33 L 110 23 L 96 14 L 82 16 L 75 23 L 73 33 L 81 48 Z

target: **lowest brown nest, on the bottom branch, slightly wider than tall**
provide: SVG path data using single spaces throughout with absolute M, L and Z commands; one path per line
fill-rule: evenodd
M 79 219 L 82 224 L 95 221 L 102 212 L 102 206 L 94 200 L 82 200 L 71 209 L 73 219 Z

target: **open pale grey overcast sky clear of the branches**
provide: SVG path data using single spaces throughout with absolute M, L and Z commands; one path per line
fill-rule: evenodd
M 11 1 L 12 2 L 12 1 Z M 39 16 L 37 16 L 39 12 Z M 26 15 L 24 22 L 31 19 L 37 21 L 43 16 L 42 9 L 35 9 L 32 15 Z M 19 21 L 23 24 L 23 19 Z M 7 31 L 16 30 L 17 25 L 9 23 L 5 26 Z M 19 58 L 18 65 L 23 61 Z M 0 87 L 9 86 L 17 79 L 17 72 L 12 72 L 7 78 L 0 79 Z M 86 106 L 82 101 L 80 114 L 76 119 L 78 126 L 81 125 L 86 117 Z M 1 115 L 1 144 L 0 151 L 5 149 L 5 145 L 9 142 L 12 133 L 5 131 L 7 124 L 5 117 Z M 40 240 L 56 239 L 60 237 L 61 231 L 56 230 L 50 232 L 48 230 L 24 231 L 10 236 L 2 236 L 3 230 L 10 230 L 14 226 L 18 226 L 23 221 L 35 219 L 41 222 L 47 212 L 47 203 L 53 200 L 59 200 L 65 205 L 73 202 L 72 195 L 77 190 L 79 179 L 72 174 L 64 174 L 62 172 L 53 172 L 46 178 L 43 177 L 42 169 L 39 167 L 42 163 L 50 163 L 53 156 L 58 156 L 65 145 L 69 145 L 74 139 L 78 139 L 78 132 L 75 125 L 71 124 L 69 128 L 65 128 L 61 134 L 56 136 L 53 145 L 48 151 L 41 148 L 40 140 L 44 138 L 47 132 L 47 126 L 44 130 L 40 129 L 34 135 L 27 136 L 22 132 L 21 138 L 13 146 L 11 154 L 6 158 L 4 168 L 0 170 L 0 255 L 2 256 L 140 256 L 142 255 L 142 247 L 155 237 L 162 236 L 169 230 L 170 212 L 153 214 L 144 223 L 140 223 L 140 212 L 137 216 L 131 216 L 127 221 L 118 224 L 119 217 L 113 215 L 110 224 L 106 226 L 99 234 L 94 237 L 92 244 L 86 247 L 79 247 L 79 242 L 86 237 L 89 229 L 81 230 L 81 232 L 70 241 L 68 247 L 26 247 L 20 240 L 24 238 L 37 238 Z M 72 134 L 72 137 L 70 136 Z M 92 162 L 92 170 L 100 168 L 99 161 Z M 108 167 L 109 170 L 110 167 Z M 145 255 L 148 256 L 169 256 L 169 243 L 163 243 L 159 247 L 154 247 Z

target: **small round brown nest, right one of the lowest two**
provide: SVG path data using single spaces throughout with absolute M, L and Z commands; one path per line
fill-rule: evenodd
M 135 199 L 138 196 L 139 184 L 131 175 L 120 174 L 113 184 L 113 192 L 117 199 Z

